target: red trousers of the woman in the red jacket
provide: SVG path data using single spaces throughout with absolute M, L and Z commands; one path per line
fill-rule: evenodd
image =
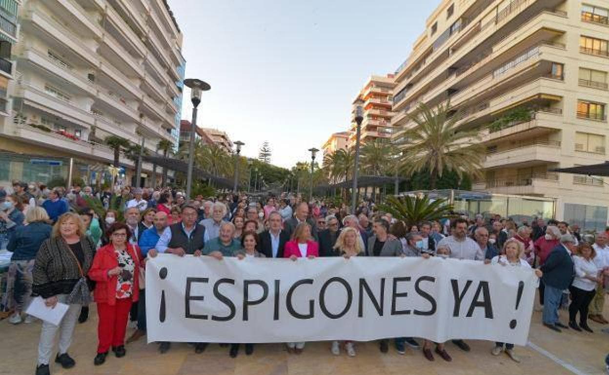
M 110 346 L 125 345 L 127 318 L 131 309 L 131 298 L 116 298 L 116 304 L 97 303 L 97 353 L 106 353 Z

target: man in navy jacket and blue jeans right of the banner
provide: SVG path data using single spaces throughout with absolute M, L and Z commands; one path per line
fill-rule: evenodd
M 563 291 L 573 281 L 574 264 L 571 259 L 571 249 L 575 246 L 575 238 L 566 234 L 560 236 L 560 245 L 554 247 L 540 267 L 543 272 L 543 325 L 552 331 L 560 332 L 560 328 L 568 328 L 558 321 L 558 308 L 563 297 Z M 560 327 L 560 328 L 558 328 Z

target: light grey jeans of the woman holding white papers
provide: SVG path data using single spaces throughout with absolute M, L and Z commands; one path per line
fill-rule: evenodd
M 62 294 L 57 296 L 59 302 L 65 303 L 68 295 Z M 70 304 L 68 311 L 63 315 L 62 322 L 58 326 L 48 322 L 42 322 L 40 331 L 40 342 L 38 343 L 38 365 L 48 365 L 51 359 L 55 336 L 59 331 L 59 354 L 68 353 L 68 348 L 72 343 L 72 334 L 74 326 L 80 314 L 80 304 Z

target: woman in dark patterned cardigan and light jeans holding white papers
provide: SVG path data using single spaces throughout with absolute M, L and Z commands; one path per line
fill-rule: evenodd
M 57 302 L 68 304 L 68 312 L 55 326 L 42 323 L 38 343 L 37 375 L 49 374 L 49 360 L 55 336 L 59 331 L 59 353 L 55 362 L 63 368 L 74 367 L 76 362 L 68 354 L 74 326 L 83 304 L 89 303 L 90 292 L 85 275 L 91 268 L 95 245 L 85 235 L 85 225 L 76 213 L 64 213 L 57 219 L 51 238 L 40 246 L 33 267 L 32 294 L 44 298 L 46 306 L 54 308 Z

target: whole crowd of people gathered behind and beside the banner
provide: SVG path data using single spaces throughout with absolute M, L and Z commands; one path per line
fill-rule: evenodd
M 540 277 L 543 324 L 552 331 L 593 332 L 588 318 L 609 323 L 602 315 L 608 291 L 604 276 L 609 275 L 609 237 L 605 232 L 593 238 L 582 236 L 566 222 L 546 223 L 539 218 L 530 225 L 518 225 L 500 215 L 476 215 L 471 220 L 455 215 L 406 225 L 379 211 L 371 201 L 362 202 L 351 213 L 345 205 L 305 202 L 287 193 L 267 196 L 264 201 L 230 193 L 187 199 L 167 188 L 124 187 L 112 194 L 108 189 L 94 192 L 91 187 L 74 187 L 66 194 L 61 187 L 32 188 L 18 181 L 13 191 L 7 190 L 0 188 L 0 249 L 13 253 L 10 323 L 33 321 L 25 314 L 33 296 L 44 298 L 47 306 L 58 302 L 69 306 L 60 325 L 42 322 L 37 375 L 50 373 L 57 336 L 55 362 L 63 368 L 75 365 L 68 349 L 77 322 L 88 319 L 91 294 L 98 316 L 94 364 L 102 365 L 110 350 L 116 357 L 125 356 L 125 343 L 146 335 L 144 265 L 159 253 L 217 260 L 230 256 L 239 260 L 437 256 L 501 264 L 532 269 Z M 104 207 L 103 212 L 99 207 Z M 567 324 L 558 320 L 561 307 L 568 308 Z M 125 341 L 128 327 L 135 331 Z M 435 360 L 434 354 L 452 360 L 445 343 L 423 340 L 421 345 L 413 337 L 379 340 L 382 353 L 389 351 L 392 340 L 400 354 L 409 346 L 421 348 L 430 361 Z M 470 351 L 464 340 L 452 343 Z M 236 357 L 241 344 L 222 345 Z M 243 344 L 245 354 L 252 354 L 254 345 Z M 208 343 L 192 345 L 195 353 L 202 353 Z M 169 342 L 158 343 L 160 353 L 170 348 Z M 305 342 L 286 343 L 288 353 L 300 354 L 304 349 Z M 353 357 L 356 343 L 334 341 L 329 350 L 336 356 L 344 350 Z M 491 354 L 501 353 L 519 362 L 511 343 L 495 343 Z

